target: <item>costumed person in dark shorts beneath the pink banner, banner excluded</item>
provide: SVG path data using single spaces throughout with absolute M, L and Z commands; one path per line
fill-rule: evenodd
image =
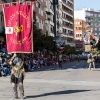
M 24 67 L 23 67 L 23 55 L 20 53 L 15 53 L 11 60 L 9 61 L 9 64 L 11 65 L 11 84 L 13 87 L 13 99 L 18 98 L 18 91 L 17 87 L 19 86 L 20 90 L 20 98 L 24 98 L 24 86 L 23 86 L 23 80 L 24 80 Z

